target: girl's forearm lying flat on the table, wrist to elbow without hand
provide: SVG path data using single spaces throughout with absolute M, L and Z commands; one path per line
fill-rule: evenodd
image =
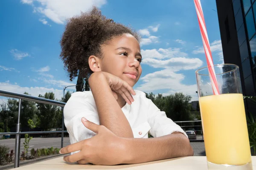
M 194 155 L 189 139 L 180 132 L 150 139 L 126 139 L 126 142 L 125 164 Z

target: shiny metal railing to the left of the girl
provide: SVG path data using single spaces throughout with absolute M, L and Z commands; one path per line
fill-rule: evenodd
M 20 132 L 20 108 L 21 108 L 21 100 L 29 100 L 32 102 L 38 102 L 38 103 L 44 103 L 44 104 L 49 104 L 49 105 L 56 105 L 56 106 L 61 106 L 64 107 L 66 103 L 64 102 L 59 102 L 55 100 L 50 100 L 50 99 L 44 99 L 41 97 L 35 97 L 35 96 L 30 96 L 27 94 L 19 94 L 19 93 L 14 93 L 11 91 L 4 91 L 0 90 L 0 96 L 5 96 L 5 97 L 11 97 L 15 99 L 19 99 L 19 108 L 18 108 L 18 121 L 16 125 L 16 132 L 9 132 L 9 133 L 0 133 L 0 135 L 10 135 L 10 134 L 16 134 L 15 137 L 15 160 L 14 160 L 14 168 L 20 166 L 20 134 L 35 134 L 35 133 L 61 133 L 61 147 L 63 147 L 63 137 L 64 133 L 67 132 L 64 130 L 64 114 L 62 112 L 62 130 L 61 131 L 39 131 L 39 132 Z

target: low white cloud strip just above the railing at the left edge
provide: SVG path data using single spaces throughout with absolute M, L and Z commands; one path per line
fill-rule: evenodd
M 63 96 L 63 90 L 45 87 L 21 87 L 10 82 L 0 82 L 0 89 L 20 94 L 28 92 L 32 96 L 38 96 L 39 94 L 44 95 L 46 92 L 53 92 L 55 94 L 55 98 L 57 99 L 61 99 Z

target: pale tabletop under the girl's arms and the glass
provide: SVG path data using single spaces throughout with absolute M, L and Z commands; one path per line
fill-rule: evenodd
M 113 166 L 69 164 L 63 157 L 29 164 L 15 170 L 207 170 L 206 156 L 189 156 L 142 164 L 124 164 Z M 256 170 L 256 156 L 252 156 L 253 169 Z

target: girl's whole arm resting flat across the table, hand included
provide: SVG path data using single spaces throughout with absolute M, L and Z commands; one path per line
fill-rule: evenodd
M 136 164 L 160 159 L 182 156 L 193 156 L 189 139 L 179 132 L 150 139 L 121 138 L 108 128 L 82 119 L 85 127 L 97 133 L 90 139 L 71 144 L 60 150 L 70 153 L 80 150 L 71 156 L 64 156 L 64 161 L 79 164 Z

